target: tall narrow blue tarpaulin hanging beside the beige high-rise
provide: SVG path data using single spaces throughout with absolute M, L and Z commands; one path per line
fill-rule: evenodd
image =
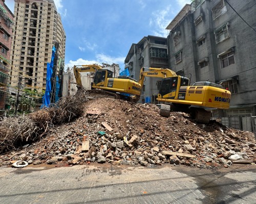
M 45 92 L 45 95 L 42 96 L 41 108 L 49 107 L 50 103 L 51 103 L 51 101 L 50 101 L 51 91 L 52 91 L 51 78 L 52 78 L 52 73 L 53 73 L 53 61 L 55 58 L 55 52 L 56 52 L 56 48 L 53 46 L 51 63 L 49 63 L 49 62 L 47 63 L 46 92 Z

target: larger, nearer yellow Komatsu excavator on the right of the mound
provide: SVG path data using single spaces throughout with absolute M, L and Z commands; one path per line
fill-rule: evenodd
M 207 109 L 228 109 L 230 91 L 211 82 L 196 82 L 189 86 L 190 79 L 164 68 L 141 68 L 139 84 L 145 77 L 162 78 L 157 100 L 160 115 L 168 117 L 170 110 L 189 113 L 198 122 L 208 123 L 211 117 Z

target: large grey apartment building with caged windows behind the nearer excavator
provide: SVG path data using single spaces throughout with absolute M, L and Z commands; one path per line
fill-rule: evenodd
M 191 81 L 222 83 L 229 110 L 213 110 L 222 123 L 252 130 L 256 115 L 256 2 L 195 0 L 167 25 L 168 66 Z

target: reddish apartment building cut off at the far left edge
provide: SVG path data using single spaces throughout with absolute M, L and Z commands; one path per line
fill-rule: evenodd
M 0 115 L 8 108 L 8 71 L 10 69 L 10 49 L 13 25 L 13 13 L 0 1 Z

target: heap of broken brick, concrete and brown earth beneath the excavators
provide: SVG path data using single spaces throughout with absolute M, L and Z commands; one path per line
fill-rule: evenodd
M 99 98 L 87 101 L 82 116 L 52 129 L 41 141 L 1 155 L 0 165 L 22 160 L 56 166 L 97 162 L 216 168 L 254 164 L 255 151 L 250 132 L 216 121 L 199 124 L 182 112 L 165 118 L 152 104 Z

